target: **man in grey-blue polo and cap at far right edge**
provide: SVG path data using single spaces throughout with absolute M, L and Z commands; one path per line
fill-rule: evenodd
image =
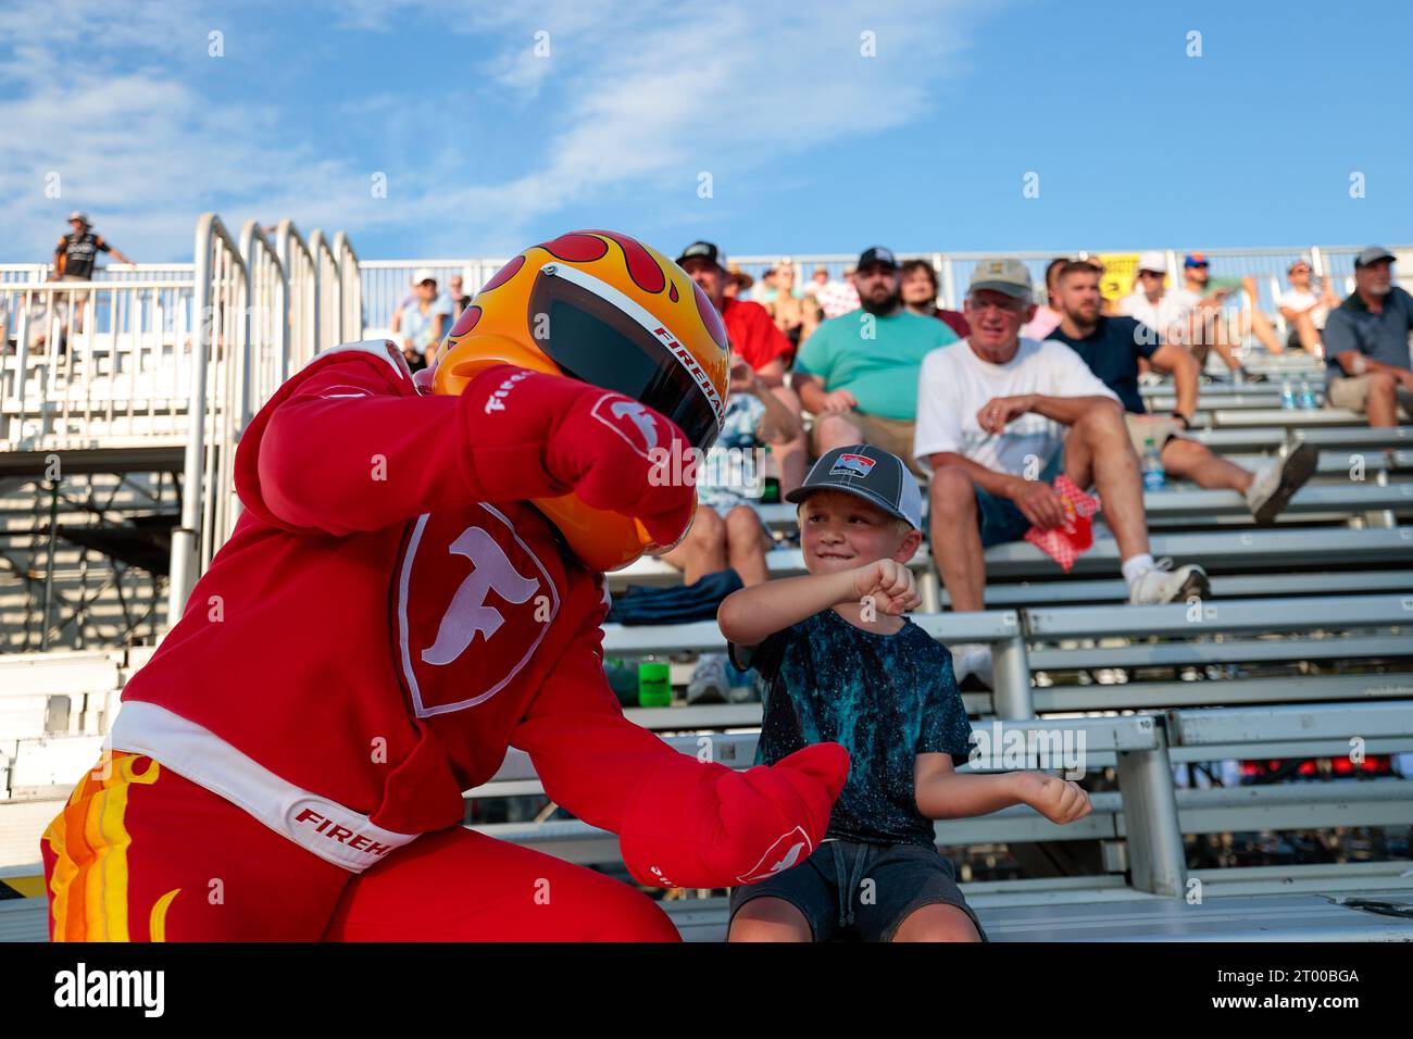
M 1413 414 L 1413 295 L 1393 284 L 1393 259 L 1383 246 L 1361 252 L 1354 291 L 1324 328 L 1325 399 L 1368 416 L 1369 425 L 1397 425 L 1400 407 Z

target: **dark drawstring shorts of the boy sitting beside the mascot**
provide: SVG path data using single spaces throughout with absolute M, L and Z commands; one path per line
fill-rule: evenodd
M 913 910 L 935 903 L 961 909 L 986 940 L 952 864 L 920 844 L 827 840 L 800 865 L 732 891 L 731 915 L 757 898 L 780 898 L 798 909 L 815 941 L 892 941 Z

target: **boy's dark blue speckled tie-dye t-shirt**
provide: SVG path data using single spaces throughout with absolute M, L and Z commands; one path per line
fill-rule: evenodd
M 917 810 L 920 753 L 971 751 L 971 722 L 952 677 L 952 654 L 904 618 L 893 635 L 851 625 L 832 609 L 776 632 L 753 650 L 732 646 L 738 666 L 764 680 L 757 765 L 803 746 L 842 744 L 849 779 L 828 837 L 931 847 L 933 820 Z

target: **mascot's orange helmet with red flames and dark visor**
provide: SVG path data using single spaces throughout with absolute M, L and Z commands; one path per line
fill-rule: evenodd
M 437 362 L 437 393 L 458 394 L 493 365 L 520 365 L 640 400 L 706 451 L 726 409 L 731 349 L 716 308 L 681 267 L 627 235 L 574 230 L 526 249 L 482 286 Z M 673 547 L 574 495 L 534 505 L 595 570 Z

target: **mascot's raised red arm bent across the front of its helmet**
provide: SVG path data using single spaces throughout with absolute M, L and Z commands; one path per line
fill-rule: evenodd
M 654 482 L 649 458 L 595 414 L 626 397 L 509 365 L 458 397 L 400 396 L 377 363 L 311 373 L 257 424 L 256 472 L 237 474 L 247 505 L 281 526 L 348 534 L 472 502 L 574 492 L 650 532 L 675 537 L 687 524 L 691 488 Z M 629 404 L 660 442 L 681 438 L 663 416 Z

